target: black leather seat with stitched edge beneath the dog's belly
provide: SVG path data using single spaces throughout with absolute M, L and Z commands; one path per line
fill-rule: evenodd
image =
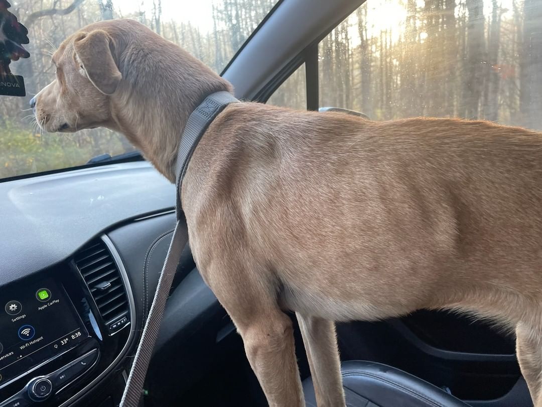
M 380 363 L 347 361 L 341 368 L 347 407 L 469 407 L 409 373 Z M 310 378 L 303 382 L 307 407 L 317 407 Z

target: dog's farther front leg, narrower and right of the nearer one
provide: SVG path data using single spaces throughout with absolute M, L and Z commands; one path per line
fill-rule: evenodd
M 344 406 L 334 323 L 319 317 L 295 315 L 301 328 L 318 407 Z

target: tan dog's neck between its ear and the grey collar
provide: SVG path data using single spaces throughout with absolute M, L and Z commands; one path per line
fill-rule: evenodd
M 190 114 L 209 94 L 233 92 L 233 87 L 183 49 L 161 37 L 160 41 L 161 47 L 150 50 L 135 44 L 132 47 L 138 49 L 125 53 L 131 60 L 119 56 L 123 80 L 111 99 L 111 128 L 124 133 L 160 173 L 175 182 L 180 136 Z

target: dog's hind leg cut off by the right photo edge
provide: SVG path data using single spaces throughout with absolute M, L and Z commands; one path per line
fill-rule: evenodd
M 542 407 L 542 338 L 540 329 L 532 329 L 524 323 L 518 323 L 516 334 L 516 354 L 521 374 L 527 382 L 534 407 Z

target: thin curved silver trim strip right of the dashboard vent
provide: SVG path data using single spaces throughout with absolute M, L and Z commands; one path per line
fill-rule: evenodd
M 117 267 L 118 267 L 118 269 L 120 271 L 120 276 L 122 277 L 122 281 L 124 282 L 124 286 L 126 288 L 126 295 L 128 297 L 128 303 L 130 303 L 130 323 L 128 325 L 126 325 L 125 327 L 127 327 L 127 326 L 130 327 L 130 334 L 128 335 L 128 339 L 126 340 L 126 344 L 124 345 L 124 347 L 122 347 L 122 350 L 120 351 L 118 356 L 112 361 L 112 363 L 106 368 L 106 370 L 101 372 L 98 377 L 96 377 L 94 380 L 91 381 L 91 383 L 87 384 L 80 391 L 75 393 L 75 395 L 70 397 L 68 400 L 66 400 L 64 403 L 62 403 L 59 407 L 66 407 L 69 404 L 72 404 L 73 402 L 75 402 L 76 399 L 78 399 L 78 398 L 82 397 L 83 395 L 85 395 L 86 392 L 91 390 L 92 387 L 94 387 L 96 384 L 99 383 L 99 381 L 101 381 L 105 376 L 107 376 L 107 374 L 109 372 L 111 372 L 113 370 L 113 368 L 115 368 L 115 366 L 117 366 L 120 363 L 122 358 L 124 358 L 128 348 L 131 346 L 132 341 L 133 341 L 134 336 L 135 336 L 135 324 L 133 323 L 134 319 L 135 319 L 135 315 L 136 315 L 135 314 L 135 301 L 134 301 L 132 286 L 130 284 L 130 279 L 128 279 L 128 274 L 126 272 L 126 269 L 124 268 L 124 264 L 122 263 L 119 252 L 117 251 L 117 248 L 114 246 L 111 239 L 109 239 L 109 237 L 106 234 L 102 234 L 102 236 L 100 238 L 101 238 L 102 241 L 104 241 L 104 243 L 107 246 L 107 249 L 109 250 L 109 252 L 111 252 L 111 256 L 113 256 L 113 259 L 115 260 L 115 263 L 117 263 Z M 124 329 L 125 327 L 122 327 L 122 329 Z M 122 329 L 119 329 L 117 332 L 120 332 Z

